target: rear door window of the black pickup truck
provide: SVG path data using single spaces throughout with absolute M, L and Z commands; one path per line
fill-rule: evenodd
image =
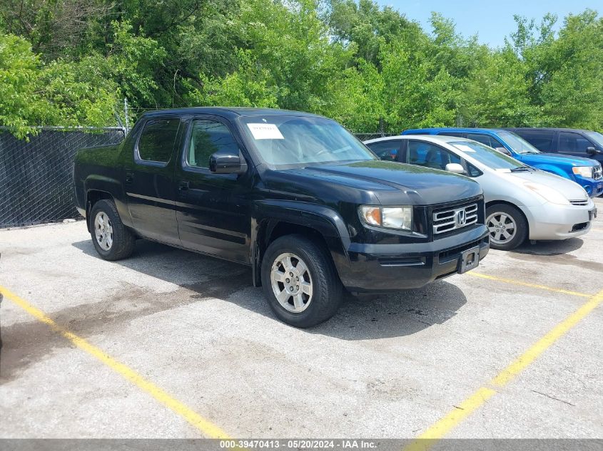
M 136 146 L 138 158 L 143 162 L 169 162 L 179 125 L 178 118 L 147 120 Z

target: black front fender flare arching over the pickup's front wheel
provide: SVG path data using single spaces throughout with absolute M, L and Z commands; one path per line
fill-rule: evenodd
M 338 268 L 338 261 L 348 260 L 350 232 L 343 218 L 334 209 L 308 202 L 258 200 L 254 202 L 251 213 L 250 261 L 254 286 L 261 284 L 260 268 L 263 252 L 268 247 L 268 238 L 281 222 L 308 227 L 318 232 L 325 239 L 335 269 Z

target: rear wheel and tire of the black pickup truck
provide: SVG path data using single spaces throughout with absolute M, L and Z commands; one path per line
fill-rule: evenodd
M 121 260 L 132 254 L 136 237 L 121 222 L 115 202 L 99 200 L 93 204 L 88 220 L 94 249 L 102 259 Z

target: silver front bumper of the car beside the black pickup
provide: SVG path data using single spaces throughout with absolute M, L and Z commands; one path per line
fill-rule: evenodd
M 590 230 L 592 219 L 597 214 L 592 199 L 581 206 L 546 203 L 521 209 L 529 224 L 529 239 L 534 240 L 579 237 Z

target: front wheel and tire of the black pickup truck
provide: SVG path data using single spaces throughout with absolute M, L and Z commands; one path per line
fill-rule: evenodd
M 272 242 L 262 259 L 261 274 L 270 309 L 291 326 L 306 328 L 326 321 L 343 297 L 330 254 L 303 235 L 286 235 Z

